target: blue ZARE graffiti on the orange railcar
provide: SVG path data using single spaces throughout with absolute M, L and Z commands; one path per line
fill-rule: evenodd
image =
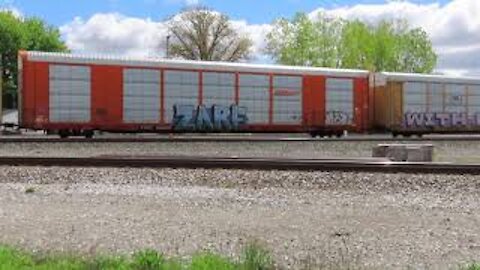
M 174 130 L 178 131 L 232 131 L 247 124 L 247 108 L 238 105 L 185 105 L 173 106 Z

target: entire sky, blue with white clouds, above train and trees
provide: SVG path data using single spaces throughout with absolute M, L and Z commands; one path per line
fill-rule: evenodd
M 406 19 L 430 36 L 439 55 L 437 70 L 480 76 L 480 0 L 0 0 L 23 16 L 58 26 L 75 53 L 165 55 L 167 19 L 192 3 L 230 16 L 253 41 L 253 62 L 268 62 L 265 37 L 271 22 L 303 11 L 376 23 Z

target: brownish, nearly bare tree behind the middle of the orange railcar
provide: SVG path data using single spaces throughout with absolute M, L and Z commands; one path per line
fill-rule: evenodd
M 189 60 L 235 62 L 250 56 L 252 41 L 235 30 L 230 19 L 205 8 L 174 16 L 169 25 L 170 54 Z

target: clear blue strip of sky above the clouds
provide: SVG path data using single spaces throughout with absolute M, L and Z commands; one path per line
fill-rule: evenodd
M 163 20 L 178 12 L 185 0 L 0 0 L 27 16 L 39 16 L 54 25 L 63 25 L 74 17 L 88 18 L 96 13 L 117 12 L 126 16 Z M 193 1 L 195 2 L 195 1 Z M 319 7 L 334 8 L 356 4 L 381 4 L 382 0 L 201 0 L 201 4 L 227 13 L 233 19 L 252 24 L 270 23 L 277 17 L 290 17 L 297 11 L 311 12 Z M 412 3 L 447 3 L 447 0 L 412 0 Z

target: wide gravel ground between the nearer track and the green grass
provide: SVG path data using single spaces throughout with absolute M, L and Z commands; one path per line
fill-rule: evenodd
M 479 198 L 463 175 L 0 167 L 0 243 L 235 256 L 259 240 L 291 269 L 456 269 L 480 260 Z

